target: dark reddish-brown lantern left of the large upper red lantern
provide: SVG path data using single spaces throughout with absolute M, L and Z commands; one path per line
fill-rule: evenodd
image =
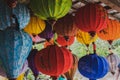
M 58 35 L 74 36 L 78 31 L 78 28 L 75 26 L 73 16 L 66 15 L 65 17 L 57 20 L 54 25 L 54 30 Z

